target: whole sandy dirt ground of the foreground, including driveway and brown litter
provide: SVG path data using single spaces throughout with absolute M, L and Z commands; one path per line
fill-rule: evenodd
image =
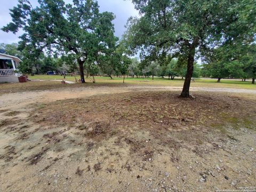
M 193 91 L 0 95 L 0 191 L 255 191 L 255 91 Z

